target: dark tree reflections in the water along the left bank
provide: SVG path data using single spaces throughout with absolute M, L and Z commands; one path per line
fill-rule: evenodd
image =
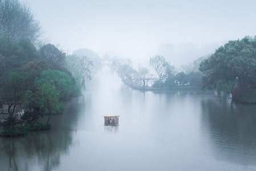
M 29 132 L 27 136 L 11 139 L 0 138 L 0 170 L 48 171 L 58 168 L 60 157 L 68 154 L 72 144 L 78 111 L 86 107 L 84 100 L 83 97 L 79 102 L 73 100 L 66 105 L 63 115 L 52 116 L 50 131 Z

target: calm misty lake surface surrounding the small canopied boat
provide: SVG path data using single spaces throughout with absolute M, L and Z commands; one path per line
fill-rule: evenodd
M 1 138 L 0 170 L 256 170 L 256 106 L 133 91 L 109 73 L 52 117 L 51 131 Z M 119 127 L 103 115 L 120 115 Z

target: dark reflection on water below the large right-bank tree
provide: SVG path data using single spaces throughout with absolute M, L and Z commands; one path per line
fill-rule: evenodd
M 256 106 L 208 99 L 202 101 L 201 107 L 202 125 L 209 131 L 218 160 L 255 166 Z

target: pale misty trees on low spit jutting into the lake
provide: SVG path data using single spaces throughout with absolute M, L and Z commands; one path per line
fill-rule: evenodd
M 160 63 L 158 63 L 161 61 Z M 131 88 L 141 90 L 156 90 L 156 89 L 170 89 L 174 86 L 180 86 L 181 84 L 189 84 L 193 86 L 199 86 L 201 84 L 201 72 L 190 72 L 188 75 L 184 72 L 180 72 L 174 75 L 174 67 L 170 66 L 168 62 L 161 56 L 155 56 L 151 58 L 153 66 L 161 68 L 162 80 L 156 80 L 155 76 L 150 74 L 149 69 L 140 67 L 139 70 L 132 68 L 130 60 L 114 60 L 112 63 L 112 70 L 116 71 L 117 75 L 122 81 Z M 157 62 L 157 63 L 155 63 Z M 148 82 L 152 81 L 152 87 L 148 86 Z

